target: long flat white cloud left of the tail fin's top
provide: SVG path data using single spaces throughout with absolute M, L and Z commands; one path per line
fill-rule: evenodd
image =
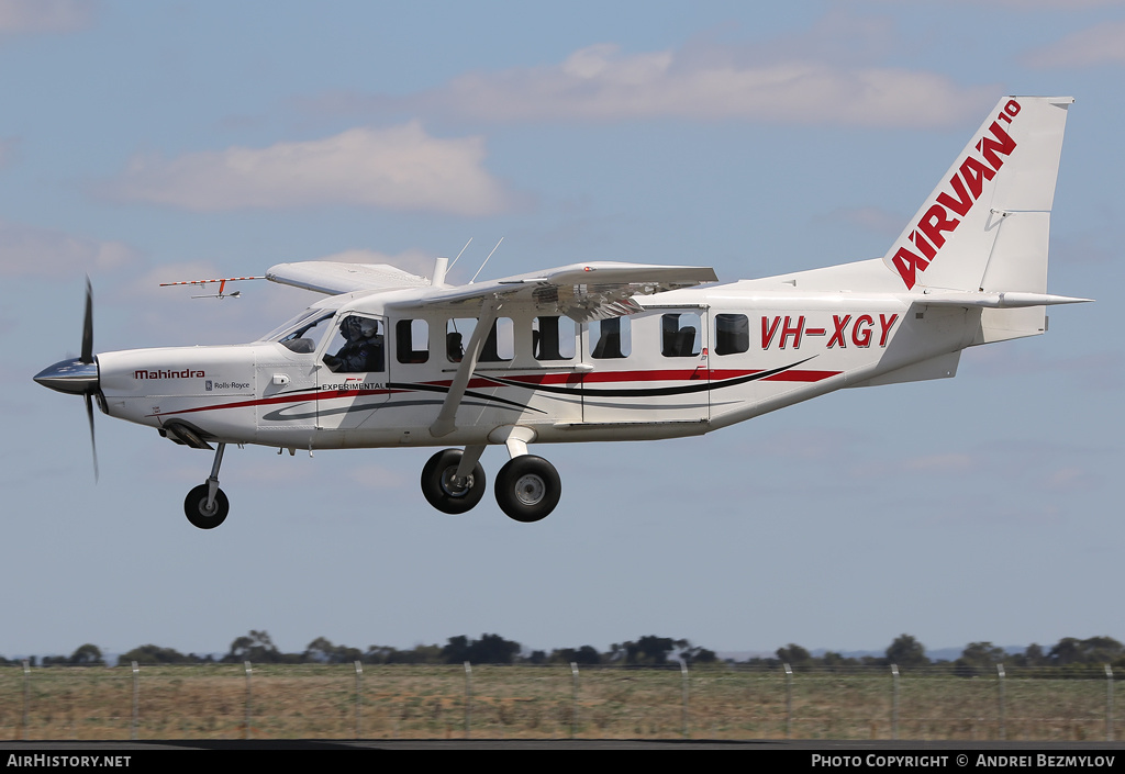
M 786 39 L 754 50 L 693 45 L 637 54 L 605 43 L 555 65 L 470 73 L 405 98 L 336 96 L 316 107 L 399 108 L 490 122 L 670 117 L 915 127 L 973 117 L 998 93 L 934 72 L 842 61 L 847 57 L 825 42 L 827 35 L 817 27 L 804 36 L 809 45 Z

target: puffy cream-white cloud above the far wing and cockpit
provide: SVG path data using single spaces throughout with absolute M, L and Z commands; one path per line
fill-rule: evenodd
M 482 137 L 432 137 L 418 122 L 324 140 L 138 155 L 108 192 L 194 210 L 357 205 L 492 215 L 510 197 L 483 168 Z

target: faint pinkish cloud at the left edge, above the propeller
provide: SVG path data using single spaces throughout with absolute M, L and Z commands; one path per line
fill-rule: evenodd
M 136 259 L 136 251 L 122 242 L 0 220 L 0 277 L 110 271 Z

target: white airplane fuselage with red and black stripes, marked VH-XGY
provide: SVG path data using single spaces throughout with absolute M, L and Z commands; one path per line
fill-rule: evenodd
M 802 290 L 795 280 L 656 294 L 618 323 L 559 324 L 502 306 L 454 429 L 435 435 L 459 368 L 451 341 L 468 342 L 474 321 L 418 304 L 424 292 L 322 302 L 322 316 L 335 316 L 298 348 L 99 354 L 104 407 L 158 429 L 180 422 L 209 440 L 290 449 L 495 443 L 512 426 L 540 443 L 647 440 L 702 434 L 842 387 L 953 376 L 960 350 L 981 340 L 979 310 L 891 290 Z M 353 314 L 377 321 L 381 368 L 326 366 Z

